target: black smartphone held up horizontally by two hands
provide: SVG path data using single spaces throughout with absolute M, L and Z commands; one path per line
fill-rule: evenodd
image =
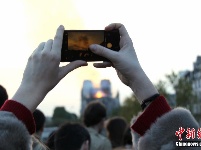
M 91 44 L 99 44 L 110 50 L 119 51 L 119 30 L 65 30 L 61 49 L 61 62 L 74 60 L 108 61 L 92 53 Z

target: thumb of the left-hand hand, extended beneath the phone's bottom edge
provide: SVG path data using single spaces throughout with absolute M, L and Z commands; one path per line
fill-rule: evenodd
M 73 71 L 76 68 L 79 68 L 81 66 L 87 66 L 88 63 L 83 60 L 76 60 L 73 62 L 70 62 L 68 65 L 64 67 L 60 67 L 59 72 L 59 79 L 61 80 L 63 77 L 65 77 L 69 72 Z

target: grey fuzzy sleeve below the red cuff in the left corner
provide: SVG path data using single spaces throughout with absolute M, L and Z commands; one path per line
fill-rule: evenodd
M 31 145 L 31 136 L 25 125 L 11 112 L 0 111 L 0 133 L 0 149 L 28 148 Z

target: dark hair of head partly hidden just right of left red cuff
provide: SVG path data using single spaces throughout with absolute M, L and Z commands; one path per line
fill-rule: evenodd
M 36 132 L 40 131 L 41 129 L 43 129 L 44 124 L 45 124 L 45 115 L 43 114 L 42 111 L 36 109 L 33 112 L 33 117 L 36 123 Z

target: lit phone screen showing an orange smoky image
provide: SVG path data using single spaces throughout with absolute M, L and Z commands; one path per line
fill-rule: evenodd
M 68 50 L 88 50 L 91 44 L 104 44 L 104 31 L 69 31 L 67 34 Z

